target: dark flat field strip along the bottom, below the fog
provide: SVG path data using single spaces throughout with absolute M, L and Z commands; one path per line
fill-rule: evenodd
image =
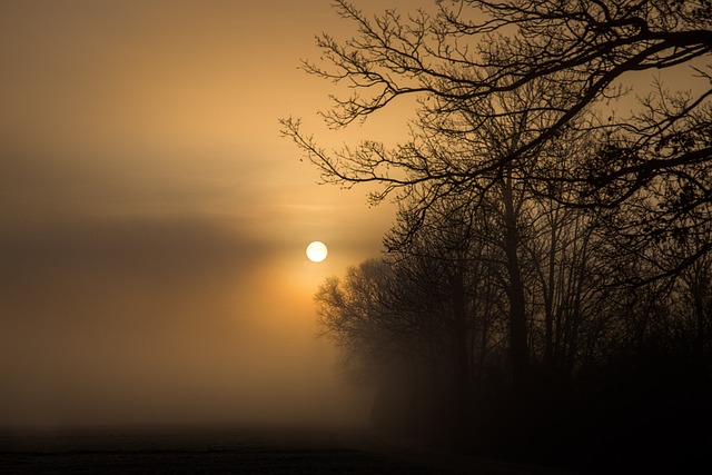
M 0 429 L 0 474 L 548 474 L 367 431 L 160 426 Z

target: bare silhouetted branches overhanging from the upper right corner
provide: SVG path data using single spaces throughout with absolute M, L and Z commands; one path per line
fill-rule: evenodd
M 691 212 L 712 217 L 712 76 L 703 63 L 712 52 L 709 2 L 455 0 L 437 6 L 433 16 L 392 10 L 370 19 L 345 0 L 335 2 L 357 36 L 344 42 L 318 37 L 324 63 L 304 63 L 306 71 L 353 90 L 334 97 L 334 108 L 324 113 L 327 122 L 347 126 L 408 95 L 419 98 L 419 118 L 412 140 L 395 149 L 364 141 L 334 152 L 301 132 L 298 120 L 284 120 L 284 133 L 322 169 L 325 181 L 379 182 L 374 200 L 399 189 L 397 198 L 415 195 L 426 208 L 451 192 L 487 189 L 514 166 L 526 170 L 538 192 L 564 191 L 553 197 L 571 206 L 614 209 L 636 201 L 631 209 L 652 222 L 635 229 L 640 247 L 659 234 L 689 231 Z M 698 79 L 696 91 L 659 88 L 633 117 L 615 113 L 632 73 L 683 66 L 691 80 Z M 531 98 L 533 90 L 537 100 L 492 108 L 503 93 Z M 503 130 L 508 146 L 486 160 L 463 159 L 452 146 L 442 150 L 443 132 L 472 131 L 493 118 L 526 126 Z M 567 164 L 567 174 L 552 175 L 561 164 L 547 160 L 542 149 L 575 130 L 595 131 L 589 156 Z M 465 157 L 472 152 L 463 150 Z M 552 181 L 563 186 L 548 187 Z M 641 201 L 646 201 L 642 208 Z M 674 274 L 696 257 L 684 256 L 661 274 Z

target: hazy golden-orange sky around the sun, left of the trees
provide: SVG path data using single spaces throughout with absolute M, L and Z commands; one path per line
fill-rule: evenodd
M 278 125 L 336 140 L 297 67 L 349 28 L 328 0 L 0 2 L 0 426 L 363 415 L 313 295 L 395 214 Z

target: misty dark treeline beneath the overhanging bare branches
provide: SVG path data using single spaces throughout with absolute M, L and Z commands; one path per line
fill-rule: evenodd
M 319 323 L 343 349 L 344 376 L 378 387 L 373 422 L 541 463 L 706 453 L 710 256 L 660 277 L 655 260 L 619 248 L 591 212 L 525 194 L 516 205 L 514 271 L 505 207 L 449 204 L 406 244 L 396 226 L 385 258 L 320 286 Z M 664 259 L 685 244 L 659 246 Z M 517 293 L 520 374 L 511 354 Z

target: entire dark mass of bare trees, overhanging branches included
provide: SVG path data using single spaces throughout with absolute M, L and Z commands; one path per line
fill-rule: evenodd
M 380 387 L 375 422 L 543 463 L 702 457 L 712 3 L 334 6 L 356 33 L 318 37 L 320 62 L 303 65 L 346 86 L 327 123 L 417 98 L 390 148 L 327 150 L 281 121 L 323 181 L 378 184 L 373 202 L 398 206 L 384 259 L 316 296 L 344 373 Z

